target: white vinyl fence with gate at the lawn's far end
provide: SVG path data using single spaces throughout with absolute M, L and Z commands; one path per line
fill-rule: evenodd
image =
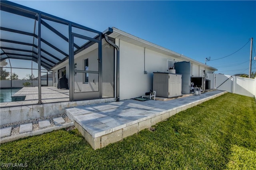
M 256 78 L 207 73 L 206 79 L 211 80 L 211 89 L 226 90 L 256 99 Z

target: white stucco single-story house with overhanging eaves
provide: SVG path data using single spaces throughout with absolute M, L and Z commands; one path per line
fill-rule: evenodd
M 118 100 L 143 96 L 152 90 L 153 72 L 168 72 L 175 62 L 190 62 L 191 77 L 205 77 L 206 73 L 217 70 L 115 27 L 103 34 L 106 38 L 102 39 L 102 70 L 99 69 L 97 43 L 74 55 L 74 94 L 86 92 L 76 99 L 100 98 L 101 93 L 102 98 L 116 97 Z M 68 59 L 51 70 L 53 84 L 57 87 L 58 78 L 64 73 L 70 76 Z

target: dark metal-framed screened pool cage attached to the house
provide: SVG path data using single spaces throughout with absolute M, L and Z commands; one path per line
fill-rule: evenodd
M 102 33 L 13 2 L 0 4 L 1 88 L 37 87 L 37 104 L 42 104 L 42 86 L 57 88 L 58 79 L 66 74 L 69 101 L 114 97 L 115 49 L 111 45 L 108 62 L 112 64 L 102 67 L 102 38 L 112 33 L 111 28 Z M 96 58 L 88 57 L 89 66 L 79 67 L 75 58 L 85 55 L 85 51 Z M 109 83 L 104 83 L 107 76 L 102 78 L 102 69 L 111 74 L 106 80 Z M 79 85 L 76 79 L 80 74 L 82 85 L 90 85 L 90 90 Z M 111 94 L 104 94 L 103 84 L 112 84 L 106 88 Z

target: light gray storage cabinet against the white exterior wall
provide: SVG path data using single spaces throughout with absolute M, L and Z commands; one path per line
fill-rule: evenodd
M 171 98 L 181 96 L 182 75 L 166 72 L 154 72 L 153 90 L 156 96 Z

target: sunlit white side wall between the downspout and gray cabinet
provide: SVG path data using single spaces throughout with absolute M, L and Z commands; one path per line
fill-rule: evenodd
M 120 100 L 143 96 L 152 90 L 153 72 L 167 72 L 167 60 L 174 58 L 146 49 L 148 73 L 144 74 L 144 48 L 120 40 Z

